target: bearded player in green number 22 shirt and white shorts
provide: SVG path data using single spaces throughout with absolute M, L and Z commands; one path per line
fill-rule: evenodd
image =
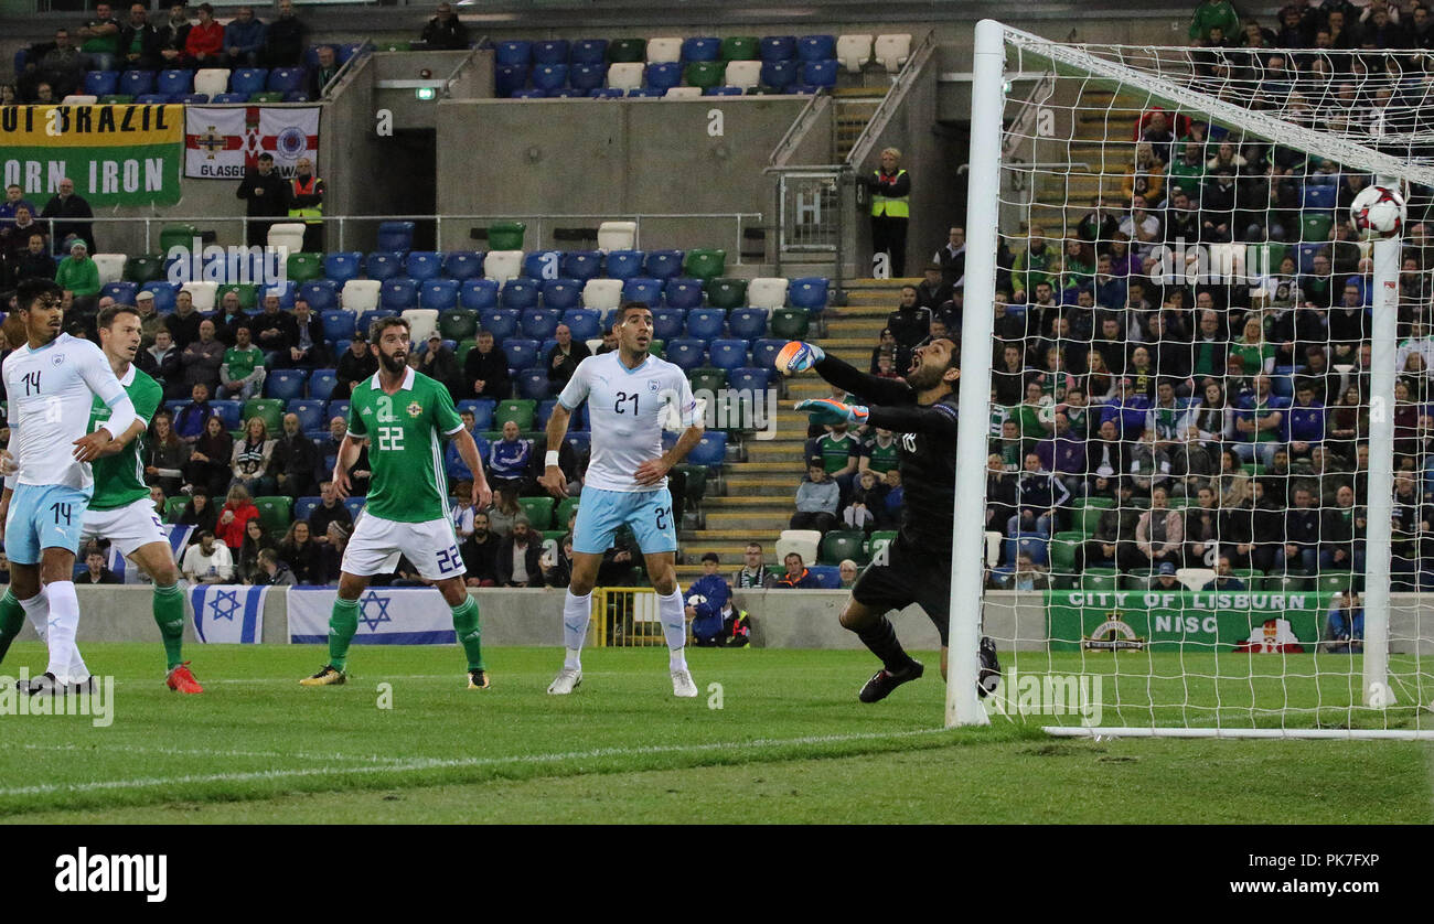
M 457 441 L 457 451 L 473 471 L 473 506 L 488 506 L 493 493 L 483 477 L 478 444 L 453 410 L 447 388 L 409 368 L 409 322 L 379 318 L 369 331 L 379 357 L 379 371 L 354 382 L 348 397 L 348 435 L 334 461 L 334 490 L 348 494 L 348 468 L 369 444 L 369 484 L 364 511 L 340 566 L 338 599 L 328 617 L 328 663 L 304 686 L 343 683 L 348 645 L 358 630 L 358 597 L 373 574 L 393 570 L 386 562 L 404 554 L 419 574 L 435 582 L 453 610 L 453 629 L 467 655 L 467 688 L 488 689 L 478 627 L 478 602 L 463 583 L 463 557 L 447 506 L 443 476 L 443 440 Z

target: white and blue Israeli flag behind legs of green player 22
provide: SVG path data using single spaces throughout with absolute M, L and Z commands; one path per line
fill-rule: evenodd
M 290 587 L 288 640 L 328 642 L 328 616 L 338 592 L 333 587 Z M 433 587 L 370 587 L 358 597 L 354 645 L 452 645 L 453 610 Z

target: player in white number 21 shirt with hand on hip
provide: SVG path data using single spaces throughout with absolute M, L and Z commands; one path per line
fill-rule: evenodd
M 630 526 L 657 590 L 673 695 L 695 696 L 697 685 L 687 670 L 684 653 L 687 622 L 677 586 L 677 524 L 673 523 L 667 473 L 701 440 L 701 408 L 683 370 L 648 354 L 652 311 L 647 305 L 622 305 L 614 329 L 618 348 L 579 362 L 548 418 L 548 457 L 541 483 L 554 497 L 568 494 L 566 476 L 558 467 L 558 447 L 568 434 L 568 418 L 584 401 L 592 428 L 592 457 L 574 526 L 572 580 L 562 603 L 568 652 L 548 692 L 566 695 L 582 682 L 582 643 L 598 566 L 618 529 Z M 673 415 L 684 430 L 677 446 L 664 453 L 663 427 Z

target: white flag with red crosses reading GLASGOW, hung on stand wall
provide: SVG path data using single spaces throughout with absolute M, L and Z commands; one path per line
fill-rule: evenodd
M 242 179 L 265 152 L 285 179 L 300 158 L 317 173 L 318 106 L 185 106 L 184 146 L 192 179 Z

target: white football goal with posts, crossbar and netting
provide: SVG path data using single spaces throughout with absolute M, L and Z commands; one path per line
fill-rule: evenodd
M 1434 736 L 1434 57 L 984 21 L 972 139 L 948 723 Z

